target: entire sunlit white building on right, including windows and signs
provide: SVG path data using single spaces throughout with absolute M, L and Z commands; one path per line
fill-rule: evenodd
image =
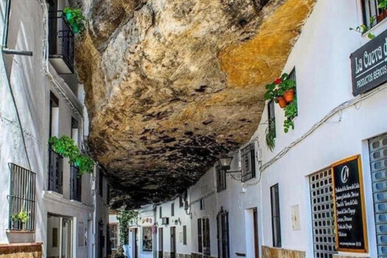
M 283 70 L 296 81 L 294 130 L 284 133 L 283 109 L 268 103 L 270 117 L 266 107 L 251 140 L 230 153 L 233 173 L 214 164 L 188 189 L 180 220 L 190 236 L 177 256 L 387 256 L 387 20 L 374 3 L 316 2 Z M 375 15 L 369 32 L 378 37 L 349 30 L 371 27 Z M 160 207 L 174 219 L 166 202 L 156 206 L 158 223 Z M 158 257 L 170 257 L 169 230 L 153 236 Z

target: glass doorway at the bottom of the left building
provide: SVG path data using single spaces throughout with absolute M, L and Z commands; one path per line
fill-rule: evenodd
M 49 214 L 47 216 L 47 257 L 72 258 L 73 219 Z

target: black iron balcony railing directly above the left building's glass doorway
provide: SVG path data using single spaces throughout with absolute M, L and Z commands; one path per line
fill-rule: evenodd
M 48 151 L 48 190 L 63 190 L 63 158 L 52 150 Z

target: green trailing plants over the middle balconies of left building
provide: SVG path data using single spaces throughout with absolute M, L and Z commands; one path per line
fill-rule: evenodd
M 68 136 L 62 136 L 59 139 L 56 136 L 48 140 L 50 148 L 62 157 L 69 158 L 70 165 L 78 167 L 79 175 L 92 173 L 94 170 L 94 161 L 86 154 L 81 154 L 74 140 Z

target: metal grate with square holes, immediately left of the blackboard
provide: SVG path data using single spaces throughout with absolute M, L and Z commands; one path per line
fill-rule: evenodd
M 314 258 L 332 258 L 336 251 L 330 168 L 309 176 Z

